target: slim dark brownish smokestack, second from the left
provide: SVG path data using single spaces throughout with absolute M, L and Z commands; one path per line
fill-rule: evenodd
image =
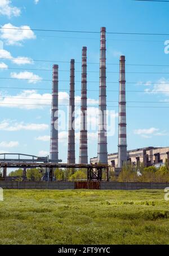
M 74 134 L 74 59 L 71 59 L 71 60 L 70 60 L 68 163 L 75 163 L 75 134 Z

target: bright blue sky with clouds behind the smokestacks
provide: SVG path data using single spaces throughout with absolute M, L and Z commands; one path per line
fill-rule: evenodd
M 11 28 L 28 26 L 30 29 L 99 32 L 100 27 L 106 27 L 107 32 L 167 33 L 168 11 L 169 3 L 132 0 L 39 0 L 36 3 L 34 0 L 0 0 L 0 24 L 1 27 Z M 69 63 L 59 61 L 69 62 L 74 58 L 75 62 L 81 62 L 82 46 L 87 46 L 88 62 L 99 63 L 99 37 L 99 34 L 89 33 L 32 30 L 23 33 L 17 30 L 12 31 L 12 29 L 1 29 L 0 40 L 3 42 L 3 48 L 1 43 L 0 58 L 12 59 L 0 59 L 0 78 L 26 77 L 29 80 L 0 79 L 0 153 L 48 154 L 51 81 L 34 81 L 31 78 L 51 80 L 51 71 L 38 70 L 51 70 L 52 64 L 59 64 L 59 80 L 67 81 L 59 83 L 60 105 L 68 104 Z M 126 81 L 128 82 L 126 90 L 138 91 L 126 93 L 128 149 L 168 146 L 169 120 L 166 106 L 169 107 L 169 105 L 164 102 L 169 101 L 169 92 L 166 92 L 166 90 L 169 91 L 169 66 L 130 66 L 128 64 L 169 65 L 169 54 L 164 53 L 164 42 L 169 40 L 169 36 L 107 34 L 106 40 L 107 63 L 115 64 L 107 65 L 108 110 L 114 110 L 115 113 L 115 126 L 113 126 L 115 132 L 108 137 L 108 152 L 116 152 L 118 144 L 118 102 L 114 101 L 118 101 L 118 63 L 121 54 L 126 55 Z M 21 62 L 20 58 L 24 58 L 24 61 Z M 54 60 L 54 62 L 33 60 Z M 5 69 L 5 67 L 8 68 Z M 81 71 L 81 64 L 75 63 L 75 70 Z M 90 73 L 90 71 L 96 71 L 96 73 Z M 88 64 L 88 81 L 99 81 L 97 72 L 99 72 L 99 64 Z M 81 72 L 75 73 L 75 80 L 81 80 Z M 76 99 L 79 99 L 80 89 L 81 83 L 75 83 Z M 99 83 L 88 82 L 88 98 L 92 100 L 88 102 L 90 106 L 88 109 L 94 114 L 99 98 L 98 89 Z M 109 92 L 110 90 L 116 92 Z M 148 93 L 148 90 L 153 90 L 153 93 Z M 145 103 L 149 101 L 154 103 Z M 47 106 L 17 105 L 24 103 L 40 103 Z M 60 106 L 60 110 L 65 109 L 66 107 Z M 92 120 L 97 123 L 95 115 Z M 66 129 L 59 132 L 59 158 L 66 162 Z M 78 129 L 76 132 L 78 161 Z M 89 131 L 88 140 L 89 158 L 96 155 L 97 129 Z

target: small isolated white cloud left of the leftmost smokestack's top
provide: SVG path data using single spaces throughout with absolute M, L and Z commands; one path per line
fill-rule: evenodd
M 35 75 L 33 72 L 23 71 L 20 73 L 11 72 L 11 77 L 16 79 L 26 79 L 29 84 L 36 84 L 42 80 L 42 77 Z

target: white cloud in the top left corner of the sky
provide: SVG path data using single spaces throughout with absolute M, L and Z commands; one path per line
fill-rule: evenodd
M 11 18 L 12 16 L 19 16 L 20 12 L 20 8 L 12 6 L 10 0 L 0 1 L 0 15 L 5 15 L 8 18 Z

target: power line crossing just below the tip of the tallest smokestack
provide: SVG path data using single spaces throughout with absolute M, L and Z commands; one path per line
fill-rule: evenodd
M 90 34 L 100 34 L 99 31 L 73 31 L 73 30 L 59 30 L 59 29 L 39 29 L 39 28 L 4 28 L 0 29 L 10 29 L 10 30 L 21 30 L 21 31 L 46 31 L 46 32 L 64 32 L 64 33 L 90 33 Z M 134 35 L 144 35 L 144 36 L 169 36 L 168 33 L 137 33 L 137 32 L 106 32 L 106 34 L 134 34 Z

